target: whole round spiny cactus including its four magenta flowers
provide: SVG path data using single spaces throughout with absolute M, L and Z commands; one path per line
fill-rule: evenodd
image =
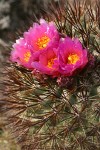
M 22 150 L 100 148 L 100 5 L 65 4 L 13 45 L 0 107 Z

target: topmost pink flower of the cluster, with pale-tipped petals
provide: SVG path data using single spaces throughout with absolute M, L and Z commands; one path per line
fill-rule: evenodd
M 47 23 L 40 19 L 40 24 L 34 23 L 33 27 L 24 33 L 24 38 L 31 45 L 34 55 L 37 55 L 51 45 L 56 48 L 59 42 L 59 33 L 53 22 Z

